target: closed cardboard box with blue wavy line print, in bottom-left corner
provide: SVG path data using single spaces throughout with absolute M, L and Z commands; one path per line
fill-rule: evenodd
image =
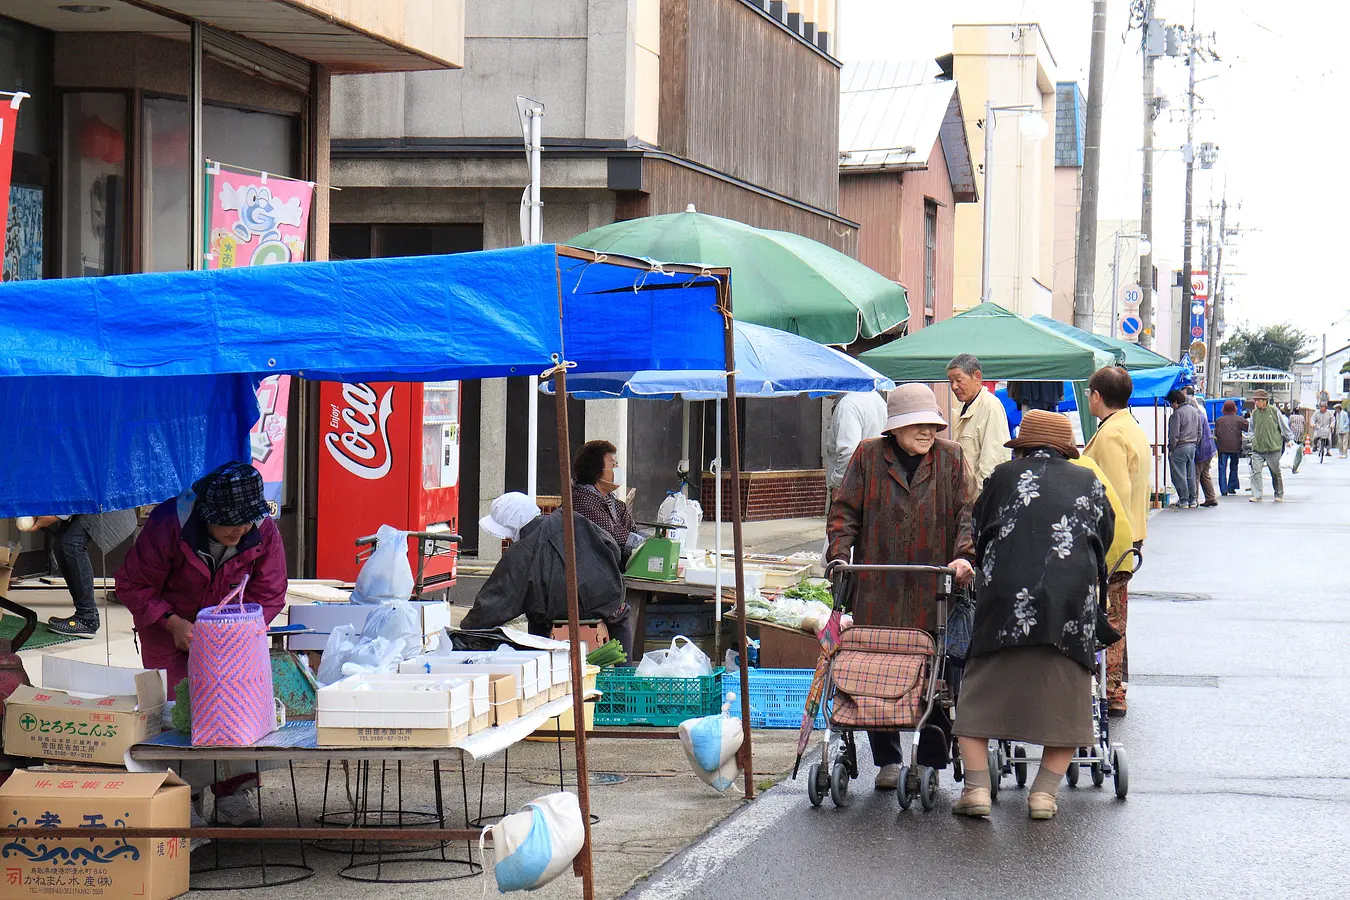
M 0 787 L 0 824 L 88 827 L 89 838 L 7 839 L 7 897 L 143 897 L 188 891 L 186 838 L 117 838 L 117 827 L 188 827 L 190 789 L 173 772 L 19 769 Z

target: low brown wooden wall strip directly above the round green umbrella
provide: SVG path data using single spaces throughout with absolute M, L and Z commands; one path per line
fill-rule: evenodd
M 857 256 L 856 228 L 667 159 L 648 157 L 643 161 L 643 193 L 617 194 L 616 220 L 683 212 L 694 204 L 698 212 L 710 216 L 736 219 L 756 228 L 791 231 Z

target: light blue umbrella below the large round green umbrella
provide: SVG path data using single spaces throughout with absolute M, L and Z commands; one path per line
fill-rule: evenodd
M 895 382 L 833 347 L 776 328 L 736 322 L 737 397 L 829 397 L 891 390 Z M 554 393 L 552 383 L 544 385 Z M 726 371 L 597 372 L 567 379 L 579 399 L 717 399 L 726 397 Z

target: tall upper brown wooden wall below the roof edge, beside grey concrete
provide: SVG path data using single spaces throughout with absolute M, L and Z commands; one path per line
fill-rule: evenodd
M 834 212 L 838 117 L 838 67 L 783 28 L 737 0 L 662 0 L 662 150 Z

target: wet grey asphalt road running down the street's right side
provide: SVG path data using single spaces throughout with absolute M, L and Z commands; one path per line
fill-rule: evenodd
M 1350 896 L 1350 461 L 1285 480 L 1285 503 L 1243 493 L 1149 524 L 1112 733 L 1127 800 L 1084 777 L 1031 822 L 1004 780 L 991 819 L 967 820 L 944 773 L 936 810 L 900 812 L 865 762 L 848 808 L 813 810 L 803 765 L 628 896 Z

